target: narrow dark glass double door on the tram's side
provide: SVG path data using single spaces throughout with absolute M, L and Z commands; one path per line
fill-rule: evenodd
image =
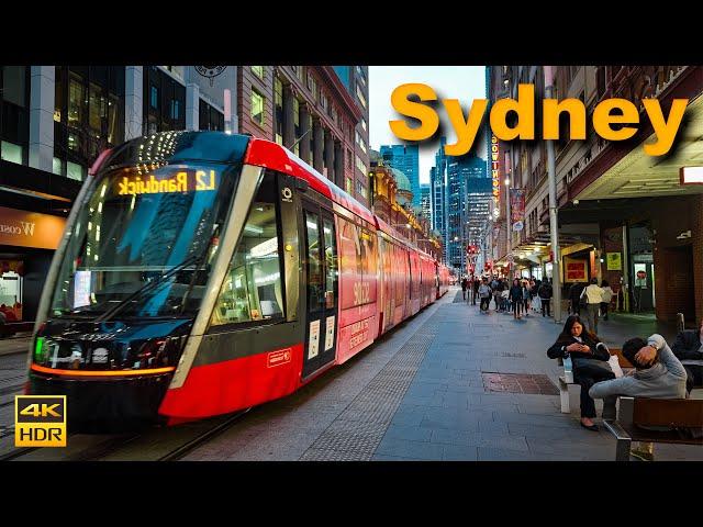
M 337 243 L 332 213 L 303 204 L 305 232 L 306 328 L 303 378 L 334 360 L 337 340 Z

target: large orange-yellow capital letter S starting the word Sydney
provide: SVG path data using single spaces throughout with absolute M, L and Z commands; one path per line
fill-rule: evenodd
M 409 100 L 415 94 L 421 101 L 436 101 L 437 94 L 427 85 L 406 83 L 401 85 L 391 93 L 391 104 L 401 115 L 414 117 L 420 121 L 420 126 L 412 128 L 403 120 L 389 121 L 391 131 L 399 139 L 423 141 L 432 137 L 439 127 L 439 116 L 432 108 Z

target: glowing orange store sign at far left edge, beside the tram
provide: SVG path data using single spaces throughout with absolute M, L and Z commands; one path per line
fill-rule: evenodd
M 0 206 L 0 245 L 56 249 L 66 218 Z

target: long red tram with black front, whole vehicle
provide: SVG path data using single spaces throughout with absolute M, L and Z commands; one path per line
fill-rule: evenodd
M 104 152 L 42 295 L 26 392 L 74 430 L 294 392 L 442 296 L 445 266 L 276 143 L 165 132 Z

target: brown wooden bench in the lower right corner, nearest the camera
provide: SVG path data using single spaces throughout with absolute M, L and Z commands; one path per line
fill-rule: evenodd
M 616 461 L 629 461 L 632 441 L 703 445 L 703 400 L 617 397 L 616 419 L 604 419 L 615 436 Z M 650 430 L 643 426 L 669 427 Z

